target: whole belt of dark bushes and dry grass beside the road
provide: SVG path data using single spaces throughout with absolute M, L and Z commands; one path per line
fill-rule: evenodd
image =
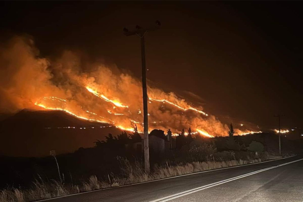
M 272 145 L 277 137 L 273 134 L 188 137 L 178 137 L 183 138 L 182 145 L 176 142 L 178 147 L 162 154 L 151 149 L 149 174 L 144 172 L 142 154 L 125 146 L 138 140 L 136 133 L 109 135 L 105 141 L 96 141 L 94 148 L 80 148 L 74 154 L 56 156 L 51 151 L 50 157 L 29 160 L 34 166 L 26 169 L 36 172 L 32 173 L 32 182 L 7 183 L 0 191 L 0 202 L 33 201 L 281 158 L 276 142 Z M 292 143 L 284 141 L 284 148 L 295 148 Z M 283 152 L 284 156 L 294 153 L 291 149 Z

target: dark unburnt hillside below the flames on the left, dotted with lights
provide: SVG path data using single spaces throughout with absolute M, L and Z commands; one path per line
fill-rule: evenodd
M 121 132 L 116 127 L 80 120 L 61 111 L 22 110 L 2 117 L 0 155 L 5 156 L 46 156 L 53 149 L 58 154 L 68 153 L 91 147 L 108 133 Z

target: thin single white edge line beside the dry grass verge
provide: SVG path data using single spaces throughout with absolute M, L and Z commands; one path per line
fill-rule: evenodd
M 295 157 L 295 156 L 297 156 L 297 155 L 294 155 L 294 156 L 291 156 L 291 157 Z M 45 200 L 53 200 L 53 199 L 63 198 L 63 197 L 68 197 L 68 196 L 73 196 L 73 195 L 79 195 L 79 194 L 90 193 L 90 192 L 95 192 L 95 191 L 103 191 L 103 190 L 108 190 L 108 189 L 113 189 L 113 188 L 120 188 L 120 187 L 125 187 L 125 186 L 132 186 L 132 185 L 137 185 L 137 184 L 144 184 L 144 183 L 149 183 L 149 182 L 156 182 L 156 181 L 167 180 L 167 179 L 176 178 L 176 177 L 183 177 L 183 176 L 187 176 L 187 175 L 195 175 L 195 174 L 200 174 L 200 173 L 207 173 L 207 172 L 213 172 L 213 171 L 218 171 L 218 170 L 237 168 L 237 167 L 242 167 L 242 166 L 250 166 L 250 165 L 255 165 L 255 164 L 262 164 L 262 163 L 267 163 L 267 162 L 271 162 L 271 161 L 278 161 L 278 160 L 282 160 L 282 159 L 288 159 L 288 158 L 291 158 L 291 157 L 284 157 L 284 158 L 281 158 L 281 159 L 273 159 L 273 160 L 269 160 L 269 161 L 263 161 L 263 162 L 252 163 L 252 164 L 244 164 L 244 165 L 239 165 L 239 166 L 231 166 L 231 167 L 226 167 L 226 168 L 219 168 L 219 169 L 212 169 L 212 170 L 206 170 L 206 171 L 199 171 L 199 172 L 195 172 L 195 173 L 189 173 L 189 174 L 184 174 L 184 175 L 177 175 L 177 176 L 167 177 L 167 178 L 162 178 L 162 179 L 157 179 L 157 180 L 150 180 L 150 181 L 146 181 L 146 182 L 138 182 L 138 183 L 134 183 L 134 184 L 126 184 L 126 185 L 121 185 L 121 186 L 116 186 L 116 187 L 109 187 L 109 188 L 104 188 L 104 189 L 85 191 L 85 192 L 81 192 L 81 193 L 73 193 L 73 194 L 69 194 L 69 195 L 58 196 L 58 197 L 53 197 L 53 198 L 46 198 L 46 199 L 35 200 L 35 201 L 39 202 L 39 201 L 45 201 Z

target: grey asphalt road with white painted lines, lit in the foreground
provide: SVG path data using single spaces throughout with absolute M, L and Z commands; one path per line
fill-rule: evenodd
M 97 190 L 49 201 L 303 201 L 303 157 Z

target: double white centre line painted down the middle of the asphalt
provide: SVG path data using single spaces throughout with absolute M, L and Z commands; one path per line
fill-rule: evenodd
M 264 171 L 267 171 L 267 170 L 270 170 L 270 169 L 278 168 L 280 166 L 285 166 L 285 165 L 292 164 L 292 163 L 295 163 L 295 162 L 298 162 L 298 161 L 302 161 L 302 160 L 303 159 L 299 159 L 299 160 L 287 162 L 287 163 L 284 163 L 284 164 L 280 164 L 280 165 L 277 165 L 277 166 L 272 166 L 272 167 L 269 167 L 269 168 L 261 169 L 261 170 L 255 171 L 255 172 L 247 173 L 247 174 L 240 175 L 240 176 L 237 176 L 237 177 L 229 178 L 229 179 L 222 180 L 222 181 L 219 181 L 219 182 L 215 182 L 215 183 L 212 183 L 212 184 L 196 187 L 196 188 L 193 188 L 193 189 L 190 189 L 190 190 L 187 190 L 187 191 L 183 191 L 183 192 L 180 192 L 180 193 L 176 193 L 176 194 L 172 194 L 172 195 L 165 196 L 165 197 L 162 197 L 162 198 L 158 198 L 156 200 L 151 200 L 149 202 L 157 202 L 157 201 L 159 201 L 159 202 L 165 202 L 165 201 L 169 201 L 169 200 L 172 200 L 172 199 L 175 199 L 175 198 L 179 198 L 179 197 L 182 197 L 182 196 L 185 196 L 185 195 L 197 192 L 197 191 L 208 189 L 208 188 L 211 188 L 211 187 L 214 187 L 214 186 L 218 186 L 220 184 L 231 182 L 231 181 L 234 181 L 234 180 L 237 180 L 237 179 L 240 179 L 240 178 L 244 178 L 244 177 L 247 177 L 247 176 L 250 176 L 250 175 L 255 175 L 257 173 L 261 173 L 261 172 L 264 172 Z

